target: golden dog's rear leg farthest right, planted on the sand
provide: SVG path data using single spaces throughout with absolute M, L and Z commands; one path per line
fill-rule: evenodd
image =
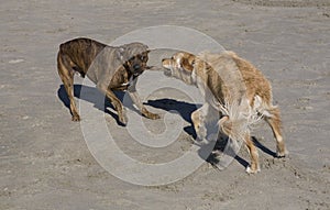
M 267 110 L 270 115 L 265 117 L 266 122 L 272 128 L 274 137 L 276 139 L 276 156 L 285 157 L 288 154 L 284 140 L 282 136 L 282 122 L 279 117 L 279 109 L 277 107 L 272 107 Z

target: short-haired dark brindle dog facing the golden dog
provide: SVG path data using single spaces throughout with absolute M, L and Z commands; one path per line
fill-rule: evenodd
M 82 37 L 61 44 L 57 68 L 70 101 L 69 109 L 73 121 L 80 121 L 74 101 L 75 73 L 79 73 L 81 77 L 87 75 L 96 84 L 117 110 L 122 124 L 127 124 L 127 117 L 123 106 L 113 90 L 128 90 L 142 115 L 148 119 L 158 119 L 158 114 L 145 109 L 135 89 L 138 77 L 148 68 L 146 66 L 148 52 L 147 46 L 142 43 L 113 47 Z

